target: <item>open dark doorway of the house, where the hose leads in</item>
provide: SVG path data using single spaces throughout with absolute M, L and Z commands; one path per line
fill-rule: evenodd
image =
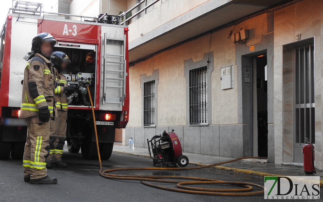
M 268 156 L 267 56 L 252 59 L 253 156 Z

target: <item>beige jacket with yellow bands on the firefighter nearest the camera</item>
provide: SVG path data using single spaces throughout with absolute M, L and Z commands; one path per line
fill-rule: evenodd
M 38 116 L 41 109 L 48 108 L 55 116 L 55 76 L 51 63 L 44 56 L 35 53 L 24 72 L 20 118 Z

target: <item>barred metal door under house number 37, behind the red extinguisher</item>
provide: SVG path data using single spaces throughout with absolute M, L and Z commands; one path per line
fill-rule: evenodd
M 303 162 L 306 138 L 315 144 L 314 45 L 296 48 L 294 162 Z

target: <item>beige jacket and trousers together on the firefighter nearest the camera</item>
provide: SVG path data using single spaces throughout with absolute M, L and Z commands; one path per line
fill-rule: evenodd
M 47 177 L 50 122 L 39 121 L 38 111 L 48 108 L 51 116 L 55 116 L 54 78 L 51 63 L 42 55 L 36 53 L 28 61 L 19 117 L 26 118 L 27 123 L 23 167 L 24 176 L 30 176 L 30 181 Z

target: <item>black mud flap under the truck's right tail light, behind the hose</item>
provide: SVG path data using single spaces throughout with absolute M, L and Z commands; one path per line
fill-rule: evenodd
M 99 143 L 114 143 L 116 129 L 113 126 L 97 125 Z M 92 142 L 96 142 L 94 127 L 92 129 Z

